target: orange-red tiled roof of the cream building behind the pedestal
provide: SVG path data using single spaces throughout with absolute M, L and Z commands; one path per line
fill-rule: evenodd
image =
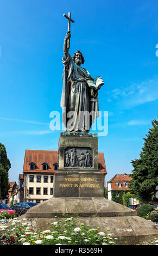
M 35 163 L 36 169 L 30 170 L 29 163 Z M 42 170 L 42 163 L 48 164 L 48 170 Z M 56 172 L 54 170 L 54 163 L 58 162 L 58 151 L 54 150 L 26 150 L 25 157 L 24 157 L 24 165 L 23 165 L 23 173 L 31 172 L 36 173 L 42 171 L 43 173 L 48 172 Z M 105 166 L 105 159 L 104 153 L 98 153 L 98 162 L 102 165 L 102 169 L 100 172 L 106 174 L 106 166 Z M 21 175 L 21 174 L 20 174 Z

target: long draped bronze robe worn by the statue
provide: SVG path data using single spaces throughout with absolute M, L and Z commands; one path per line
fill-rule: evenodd
M 88 86 L 86 81 L 93 78 L 86 69 L 75 64 L 69 53 L 67 58 L 65 56 L 62 58 L 62 63 L 64 64 L 60 103 L 63 109 L 62 121 L 67 132 L 89 132 L 94 120 L 99 117 L 98 90 Z M 91 113 L 90 119 L 85 115 L 87 112 Z

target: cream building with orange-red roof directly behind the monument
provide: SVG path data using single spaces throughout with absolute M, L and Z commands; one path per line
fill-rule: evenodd
M 23 202 L 41 203 L 52 198 L 53 178 L 57 169 L 58 151 L 26 150 L 23 174 L 20 174 L 21 179 L 19 179 L 21 185 L 18 188 L 19 191 L 23 191 Z M 104 174 L 105 187 L 107 172 L 103 153 L 98 153 L 98 169 Z

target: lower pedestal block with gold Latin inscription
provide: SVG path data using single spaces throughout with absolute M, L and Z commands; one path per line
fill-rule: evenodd
M 104 197 L 100 172 L 58 172 L 54 174 L 54 197 Z

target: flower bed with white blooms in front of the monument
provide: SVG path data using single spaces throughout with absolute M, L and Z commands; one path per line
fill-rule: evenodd
M 3 235 L 1 245 L 115 245 L 117 238 L 108 232 L 100 232 L 99 227 L 93 229 L 90 225 L 80 223 L 78 218 L 66 218 L 48 223 L 53 231 L 35 229 L 31 223 L 23 218 L 21 221 L 14 218 L 11 228 L 1 226 Z

